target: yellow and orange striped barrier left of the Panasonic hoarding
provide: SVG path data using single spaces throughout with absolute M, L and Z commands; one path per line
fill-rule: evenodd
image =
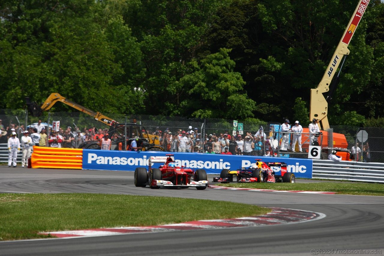
M 33 146 L 32 168 L 82 169 L 82 148 L 49 148 Z

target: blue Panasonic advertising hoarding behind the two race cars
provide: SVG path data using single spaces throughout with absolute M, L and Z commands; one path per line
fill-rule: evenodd
M 159 151 L 115 151 L 115 150 L 83 150 L 84 170 L 134 171 L 137 167 L 148 168 L 150 156 L 165 156 L 169 152 Z M 250 167 L 255 159 L 265 162 L 284 162 L 288 172 L 297 178 L 312 178 L 312 160 L 298 158 L 276 158 L 259 156 L 214 155 L 202 153 L 173 153 L 179 166 L 191 169 L 204 169 L 207 174 L 220 173 L 222 169 L 237 170 Z M 159 167 L 159 163 L 153 167 Z M 280 169 L 273 167 L 276 175 Z

